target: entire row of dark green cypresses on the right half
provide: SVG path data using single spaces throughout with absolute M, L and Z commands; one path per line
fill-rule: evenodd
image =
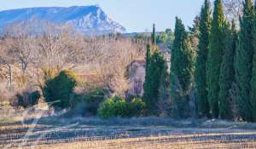
M 256 121 L 256 3 L 242 3 L 239 23 L 237 16 L 228 19 L 224 4 L 215 0 L 212 10 L 205 0 L 189 32 L 176 18 L 170 74 L 153 29 L 143 95 L 148 112 L 160 114 L 160 98 L 170 93 L 165 100 L 174 117 L 195 112 L 197 117 Z

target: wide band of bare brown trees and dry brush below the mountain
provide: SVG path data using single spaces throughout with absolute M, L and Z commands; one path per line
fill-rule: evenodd
M 144 56 L 144 43 L 129 37 L 84 37 L 67 28 L 36 35 L 23 32 L 19 25 L 8 29 L 20 33 L 6 33 L 0 39 L 0 92 L 5 93 L 1 100 L 10 100 L 23 90 L 38 90 L 45 79 L 64 69 L 81 77 L 97 76 L 95 80 L 84 78 L 79 86 L 83 90 L 97 84 L 112 94 L 124 95 L 128 88 L 126 66 Z

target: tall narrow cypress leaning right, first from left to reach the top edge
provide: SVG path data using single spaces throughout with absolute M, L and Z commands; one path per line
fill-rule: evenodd
M 211 29 L 210 8 L 209 0 L 205 0 L 204 6 L 201 9 L 199 45 L 195 62 L 195 89 L 199 115 L 201 117 L 210 117 L 209 103 L 207 100 L 207 54 Z

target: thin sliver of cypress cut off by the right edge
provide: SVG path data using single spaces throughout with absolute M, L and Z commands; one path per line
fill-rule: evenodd
M 253 122 L 256 122 L 256 1 L 254 4 L 254 18 L 253 18 L 253 77 L 251 81 L 252 93 L 251 103 L 253 106 Z

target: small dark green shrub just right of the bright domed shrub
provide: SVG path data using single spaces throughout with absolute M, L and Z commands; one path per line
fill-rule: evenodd
M 146 108 L 145 102 L 141 98 L 134 98 L 131 100 L 131 116 L 140 117 L 143 115 L 143 110 Z

